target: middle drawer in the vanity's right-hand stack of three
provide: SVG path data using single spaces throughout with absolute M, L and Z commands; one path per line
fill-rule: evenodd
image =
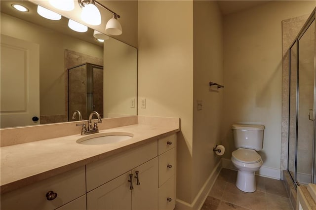
M 158 186 L 175 174 L 175 151 L 174 148 L 158 156 Z

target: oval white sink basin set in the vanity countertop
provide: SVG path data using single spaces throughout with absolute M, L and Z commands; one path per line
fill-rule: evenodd
M 76 142 L 79 144 L 86 144 L 86 145 L 98 145 L 98 144 L 117 143 L 120 141 L 129 140 L 133 137 L 134 137 L 133 134 L 125 133 L 125 132 L 98 133 L 98 134 L 92 134 L 92 135 L 82 137 Z

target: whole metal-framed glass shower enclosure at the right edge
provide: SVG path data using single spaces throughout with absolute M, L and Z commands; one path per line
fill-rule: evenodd
M 296 185 L 316 183 L 315 10 L 290 47 L 288 172 Z

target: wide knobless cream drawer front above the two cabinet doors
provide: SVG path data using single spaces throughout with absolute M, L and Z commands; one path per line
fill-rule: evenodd
M 86 165 L 87 192 L 157 157 L 158 141 Z

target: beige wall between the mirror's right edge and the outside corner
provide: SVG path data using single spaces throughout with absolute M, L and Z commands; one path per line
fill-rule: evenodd
M 139 115 L 181 118 L 177 198 L 192 199 L 193 1 L 138 2 Z

